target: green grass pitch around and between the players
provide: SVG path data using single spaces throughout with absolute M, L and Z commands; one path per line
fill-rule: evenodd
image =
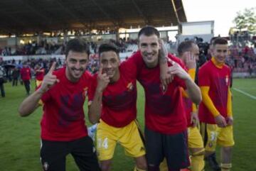
M 11 87 L 10 83 L 4 86 L 6 97 L 0 97 L 0 170 L 40 171 L 42 109 L 39 108 L 31 116 L 21 118 L 17 110 L 21 101 L 26 97 L 25 88 L 21 85 Z M 233 87 L 256 96 L 256 79 L 234 79 Z M 137 109 L 139 123 L 144 127 L 144 91 L 139 84 Z M 256 99 L 233 89 L 233 113 L 235 118 L 233 171 L 256 170 Z M 85 114 L 87 114 L 86 104 Z M 87 125 L 90 124 L 87 123 Z M 117 145 L 112 170 L 132 171 L 133 168 L 134 160 L 126 157 L 124 150 Z M 67 170 L 78 170 L 70 155 L 67 158 Z M 206 167 L 206 170 L 210 169 Z

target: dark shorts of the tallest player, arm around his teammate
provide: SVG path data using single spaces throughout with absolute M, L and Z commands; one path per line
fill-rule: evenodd
M 149 170 L 159 170 L 159 165 L 164 158 L 169 170 L 180 170 L 190 165 L 187 131 L 169 135 L 157 133 L 145 127 L 145 138 Z

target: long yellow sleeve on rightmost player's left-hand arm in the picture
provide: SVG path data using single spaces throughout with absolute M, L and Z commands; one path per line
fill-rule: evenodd
M 215 108 L 213 101 L 210 99 L 210 96 L 208 94 L 210 87 L 200 87 L 202 92 L 202 98 L 203 98 L 203 104 L 206 105 L 208 110 L 211 114 L 213 114 L 214 117 L 219 116 L 220 112 Z

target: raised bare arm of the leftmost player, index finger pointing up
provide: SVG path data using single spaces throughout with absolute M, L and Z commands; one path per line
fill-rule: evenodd
M 59 82 L 57 77 L 53 75 L 54 69 L 55 62 L 53 62 L 53 65 L 50 67 L 48 74 L 43 78 L 41 87 L 37 89 L 36 92 L 33 92 L 33 94 L 31 94 L 22 101 L 21 105 L 18 108 L 18 113 L 21 116 L 28 116 L 33 111 L 35 111 L 36 108 L 39 106 L 38 101 L 41 99 L 43 94 L 47 92 L 48 89 L 53 87 L 57 82 Z

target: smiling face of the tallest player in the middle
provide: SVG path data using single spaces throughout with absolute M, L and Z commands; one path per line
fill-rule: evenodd
M 147 67 L 156 67 L 159 61 L 159 38 L 157 35 L 140 35 L 139 50 Z

